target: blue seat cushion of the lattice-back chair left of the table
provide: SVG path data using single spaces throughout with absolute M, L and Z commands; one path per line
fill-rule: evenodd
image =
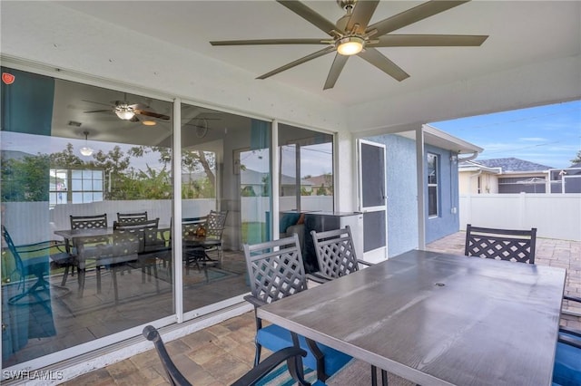
M 285 347 L 291 346 L 292 337 L 289 330 L 276 324 L 271 324 L 267 327 L 261 328 L 261 330 L 256 334 L 256 342 L 271 350 L 271 352 L 276 352 Z M 316 370 L 317 360 L 312 352 L 310 352 L 305 338 L 300 335 L 299 344 L 300 348 L 307 352 L 307 356 L 302 359 L 303 364 L 312 370 Z M 320 351 L 324 354 L 325 373 L 329 376 L 338 372 L 341 367 L 351 360 L 351 357 L 343 352 L 338 352 L 324 344 L 317 343 L 317 345 L 319 346 Z

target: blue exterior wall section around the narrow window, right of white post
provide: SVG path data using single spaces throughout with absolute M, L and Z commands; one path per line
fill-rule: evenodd
M 424 147 L 426 155 L 428 153 L 437 154 L 439 181 L 438 181 L 438 216 L 428 217 L 426 220 L 426 243 L 431 243 L 443 236 L 458 232 L 458 161 L 451 159 L 452 153 L 449 150 L 435 148 L 426 145 Z M 428 157 L 424 157 L 427 163 Z M 426 168 L 427 165 L 424 165 Z M 428 182 L 428 178 L 424 178 Z M 424 195 L 428 198 L 428 184 L 423 187 Z M 425 202 L 426 213 L 428 213 L 428 199 Z

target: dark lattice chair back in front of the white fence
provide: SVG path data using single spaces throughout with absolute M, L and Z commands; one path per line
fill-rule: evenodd
M 464 255 L 535 264 L 537 228 L 530 230 L 466 227 Z

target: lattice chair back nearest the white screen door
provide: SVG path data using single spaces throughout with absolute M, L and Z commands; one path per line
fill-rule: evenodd
M 322 275 L 338 278 L 359 270 L 349 226 L 327 232 L 310 231 Z

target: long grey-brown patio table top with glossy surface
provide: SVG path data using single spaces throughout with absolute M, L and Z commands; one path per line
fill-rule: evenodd
M 258 316 L 423 385 L 549 385 L 565 275 L 414 250 Z

